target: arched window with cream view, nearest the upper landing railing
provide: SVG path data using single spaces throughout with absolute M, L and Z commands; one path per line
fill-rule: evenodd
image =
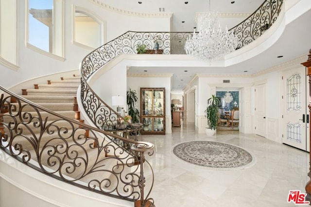
M 78 45 L 98 48 L 104 44 L 104 23 L 85 9 L 74 7 L 73 42 Z

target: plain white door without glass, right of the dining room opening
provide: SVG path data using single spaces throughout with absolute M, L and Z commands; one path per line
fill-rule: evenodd
M 266 137 L 266 85 L 255 86 L 255 134 Z

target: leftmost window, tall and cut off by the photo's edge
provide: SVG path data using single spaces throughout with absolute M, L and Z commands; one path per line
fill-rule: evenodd
M 17 69 L 17 0 L 0 0 L 0 62 Z

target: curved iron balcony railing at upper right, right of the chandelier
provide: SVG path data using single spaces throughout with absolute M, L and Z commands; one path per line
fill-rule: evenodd
M 238 37 L 237 48 L 253 42 L 276 21 L 283 0 L 265 0 L 259 8 L 237 26 L 230 29 Z

